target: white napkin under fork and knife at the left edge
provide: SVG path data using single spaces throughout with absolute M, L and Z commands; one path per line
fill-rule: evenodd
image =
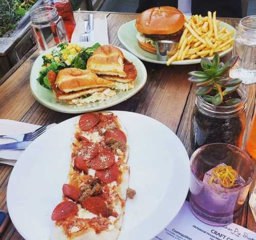
M 0 119 L 0 135 L 19 135 L 39 128 L 39 125 L 17 122 L 9 119 Z M 14 142 L 14 139 L 0 139 L 0 144 Z M 0 163 L 14 166 L 16 160 L 24 150 L 0 150 Z

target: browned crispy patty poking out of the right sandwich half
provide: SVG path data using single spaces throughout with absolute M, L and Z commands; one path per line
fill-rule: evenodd
M 136 79 L 137 70 L 132 62 L 129 62 L 128 60 L 124 59 L 123 70 L 126 74 L 126 77 L 124 78 L 121 78 L 119 76 L 110 76 L 110 75 L 101 75 L 100 77 L 106 80 L 116 81 L 120 83 L 129 83 Z

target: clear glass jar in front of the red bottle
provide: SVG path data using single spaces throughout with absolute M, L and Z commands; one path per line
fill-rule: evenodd
M 40 53 L 60 42 L 69 41 L 62 17 L 58 16 L 53 5 L 40 5 L 32 9 L 30 17 L 32 34 Z

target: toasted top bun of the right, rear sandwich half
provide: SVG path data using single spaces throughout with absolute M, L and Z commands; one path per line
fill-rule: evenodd
M 123 53 L 115 46 L 98 47 L 87 61 L 87 69 L 98 75 L 126 77 L 123 70 Z

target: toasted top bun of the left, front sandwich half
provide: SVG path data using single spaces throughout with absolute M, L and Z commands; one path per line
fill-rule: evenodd
M 111 87 L 113 82 L 99 78 L 90 70 L 71 67 L 59 71 L 55 85 L 62 92 L 68 93 L 95 87 Z

